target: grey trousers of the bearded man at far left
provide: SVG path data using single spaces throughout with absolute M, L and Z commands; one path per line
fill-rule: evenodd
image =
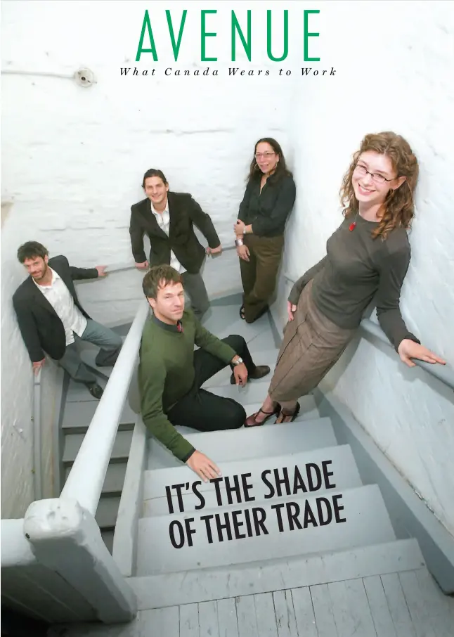
M 96 356 L 96 365 L 100 367 L 115 365 L 119 351 L 122 349 L 123 340 L 119 334 L 100 323 L 96 323 L 96 321 L 92 321 L 91 318 L 87 319 L 82 336 L 74 333 L 74 342 L 67 345 L 65 354 L 58 361 L 58 364 L 77 382 L 96 382 L 96 376 L 82 362 L 79 354 L 79 342 L 83 340 L 93 343 L 93 345 L 99 345 L 101 348 Z

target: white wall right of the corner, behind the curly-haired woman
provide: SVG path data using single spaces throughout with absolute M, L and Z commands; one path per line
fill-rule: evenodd
M 286 269 L 301 276 L 325 255 L 326 240 L 342 220 L 342 176 L 364 134 L 402 134 L 420 161 L 421 176 L 401 308 L 410 330 L 453 366 L 453 4 L 323 6 L 320 30 L 342 73 L 330 82 L 300 85 L 294 120 L 298 201 L 287 233 Z M 281 321 L 288 291 L 282 281 L 275 305 Z M 324 389 L 349 406 L 454 534 L 453 392 L 406 368 L 392 349 L 366 340 L 345 354 Z

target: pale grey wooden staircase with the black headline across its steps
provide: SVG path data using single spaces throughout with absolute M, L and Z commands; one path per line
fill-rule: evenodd
M 205 327 L 219 337 L 243 335 L 254 361 L 273 368 L 278 343 L 270 317 L 247 325 L 238 308 L 236 299 L 214 305 Z M 249 415 L 270 378 L 238 388 L 227 368 L 205 388 L 236 399 Z M 72 625 L 51 634 L 452 637 L 453 600 L 434 584 L 417 541 L 396 539 L 380 489 L 361 482 L 350 446 L 337 444 L 312 395 L 299 402 L 294 423 L 275 425 L 271 418 L 262 427 L 212 433 L 180 427 L 222 472 L 218 483 L 195 489 L 197 476 L 148 439 L 136 572 L 129 578 L 138 617 L 124 626 Z M 67 463 L 92 408 L 89 394 L 70 388 L 63 418 Z M 77 420 L 70 417 L 76 413 Z M 125 408 L 122 442 L 96 515 L 105 541 L 115 525 L 132 422 Z M 180 487 L 166 490 L 172 485 Z M 172 546 L 170 528 L 181 548 Z

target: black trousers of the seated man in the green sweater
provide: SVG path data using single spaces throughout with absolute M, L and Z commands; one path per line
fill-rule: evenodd
M 255 370 L 252 356 L 242 336 L 231 335 L 222 339 L 241 356 L 247 373 Z M 200 387 L 214 374 L 227 367 L 226 363 L 205 349 L 194 352 L 195 380 L 190 392 L 183 396 L 168 412 L 172 425 L 192 427 L 199 431 L 219 431 L 238 429 L 245 424 L 246 412 L 242 405 L 232 398 L 216 396 Z

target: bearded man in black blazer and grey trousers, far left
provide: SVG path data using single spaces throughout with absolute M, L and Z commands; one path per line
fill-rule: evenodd
M 96 365 L 108 367 L 115 364 L 123 341 L 119 334 L 90 318 L 77 298 L 73 281 L 105 276 L 105 266 L 74 268 L 62 255 L 49 259 L 46 247 L 37 241 L 21 245 L 18 260 L 30 276 L 15 291 L 13 306 L 34 373 L 44 365 L 46 353 L 100 399 L 103 388 L 82 362 L 78 343 L 85 340 L 99 345 Z

